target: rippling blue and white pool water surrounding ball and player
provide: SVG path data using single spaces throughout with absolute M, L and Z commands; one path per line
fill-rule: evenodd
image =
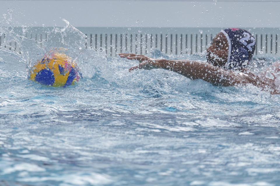
M 83 79 L 74 86 L 27 79 L 29 62 L 46 52 L 34 40 L 19 39 L 21 57 L 0 49 L 0 185 L 280 184 L 279 95 L 162 69 L 129 72 L 137 62 L 85 49 L 82 33 L 63 29 L 48 32 L 63 41 L 44 45 L 78 56 Z

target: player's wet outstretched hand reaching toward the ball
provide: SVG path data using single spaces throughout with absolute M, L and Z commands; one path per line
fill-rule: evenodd
M 119 53 L 121 58 L 127 58 L 130 60 L 138 60 L 140 63 L 137 66 L 131 67 L 128 69 L 130 72 L 135 70 L 135 69 L 157 69 L 157 68 L 162 68 L 161 61 L 158 59 L 150 58 L 148 56 L 144 55 L 137 55 L 134 53 Z

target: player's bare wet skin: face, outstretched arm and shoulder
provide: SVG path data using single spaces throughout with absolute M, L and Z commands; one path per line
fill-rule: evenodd
M 222 32 L 218 33 L 213 38 L 211 46 L 207 49 L 207 62 L 154 59 L 133 53 L 119 53 L 119 55 L 121 58 L 138 60 L 140 62 L 139 65 L 129 68 L 129 71 L 162 68 L 177 72 L 191 79 L 203 79 L 204 81 L 216 85 L 232 86 L 238 84 L 252 84 L 261 87 L 262 90 L 269 91 L 271 94 L 279 94 L 279 91 L 275 88 L 274 82 L 264 79 L 262 77 L 264 75 L 259 77 L 246 71 L 246 69 L 233 71 L 223 68 L 223 65 L 227 62 L 228 42 Z M 280 71 L 279 65 L 278 69 Z M 264 73 L 266 73 L 266 71 Z

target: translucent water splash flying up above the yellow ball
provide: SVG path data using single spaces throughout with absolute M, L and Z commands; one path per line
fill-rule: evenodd
M 9 10 L 4 14 L 0 23 L 1 61 L 11 65 L 11 70 L 29 71 L 37 60 L 53 48 L 66 48 L 65 54 L 78 63 L 97 55 L 95 51 L 85 48 L 86 35 L 65 19 L 62 19 L 66 24 L 64 27 L 13 26 L 12 13 Z

